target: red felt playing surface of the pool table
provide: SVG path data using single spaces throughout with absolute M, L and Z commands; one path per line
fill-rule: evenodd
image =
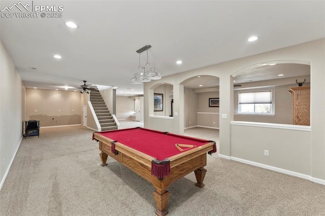
M 198 148 L 208 143 L 208 140 L 189 136 L 177 135 L 146 128 L 127 128 L 99 132 L 101 135 L 122 143 L 144 154 L 164 160 L 193 148 Z M 175 144 L 194 145 L 192 148 L 181 148 L 180 151 Z

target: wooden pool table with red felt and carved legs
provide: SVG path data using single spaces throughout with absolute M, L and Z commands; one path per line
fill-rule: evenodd
M 204 187 L 207 153 L 216 152 L 214 141 L 142 127 L 94 132 L 92 139 L 99 141 L 102 166 L 110 156 L 154 186 L 157 215 L 168 213 L 167 189 L 179 178 L 194 171 L 195 185 Z

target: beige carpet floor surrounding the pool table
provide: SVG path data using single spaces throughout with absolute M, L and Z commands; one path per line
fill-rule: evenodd
M 218 139 L 215 129 L 196 129 L 185 135 Z M 153 186 L 110 157 L 100 166 L 92 132 L 41 128 L 39 138 L 23 139 L 0 191 L 0 215 L 154 215 Z M 168 215 L 325 215 L 323 185 L 218 154 L 205 168 L 205 187 L 194 185 L 194 173 L 171 185 Z

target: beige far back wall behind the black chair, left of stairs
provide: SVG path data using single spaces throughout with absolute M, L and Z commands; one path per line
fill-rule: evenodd
M 26 89 L 26 120 L 40 120 L 47 127 L 81 124 L 81 117 L 80 92 Z

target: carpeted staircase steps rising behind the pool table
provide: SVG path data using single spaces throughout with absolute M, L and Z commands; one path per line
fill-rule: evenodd
M 117 129 L 117 125 L 113 119 L 113 116 L 108 110 L 99 91 L 90 91 L 90 102 L 98 118 L 98 121 L 100 122 L 102 131 Z

